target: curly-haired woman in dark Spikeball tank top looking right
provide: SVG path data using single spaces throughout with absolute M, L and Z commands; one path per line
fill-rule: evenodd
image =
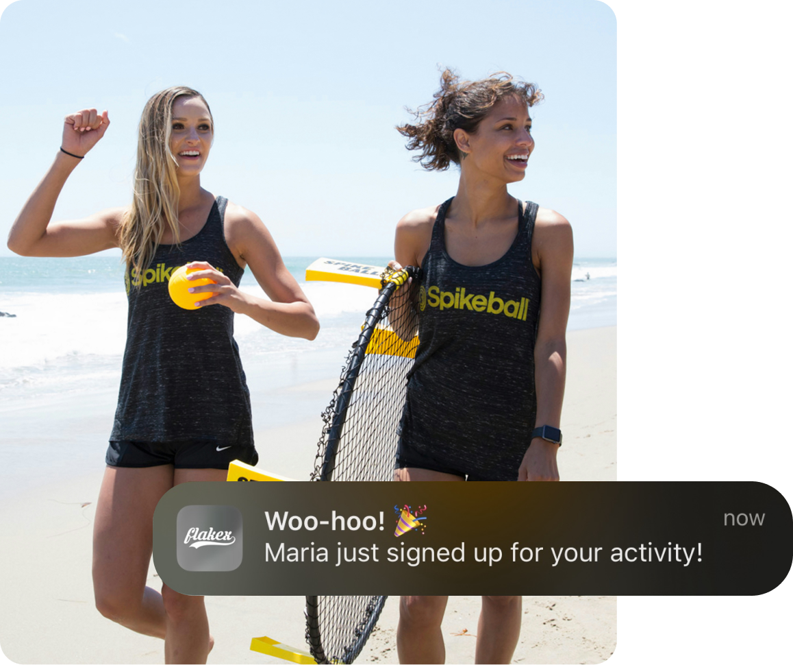
M 554 210 L 512 197 L 534 150 L 530 83 L 442 73 L 408 137 L 429 171 L 460 168 L 457 194 L 397 224 L 396 261 L 421 266 L 419 348 L 394 479 L 558 480 L 573 233 Z M 397 304 L 398 306 L 398 304 Z M 439 665 L 447 596 L 403 596 L 403 665 Z M 483 596 L 477 665 L 509 663 L 520 596 Z

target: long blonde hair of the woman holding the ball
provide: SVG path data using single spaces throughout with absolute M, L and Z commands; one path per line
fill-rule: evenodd
M 170 151 L 172 110 L 178 97 L 201 98 L 209 111 L 204 96 L 186 86 L 161 90 L 146 102 L 138 127 L 132 206 L 121 220 L 118 236 L 127 267 L 137 275 L 151 263 L 166 228 L 179 242 L 177 161 Z M 212 111 L 209 120 L 214 133 Z

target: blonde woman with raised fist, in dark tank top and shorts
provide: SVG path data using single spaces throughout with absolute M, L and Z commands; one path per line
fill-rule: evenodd
M 94 595 L 105 617 L 163 638 L 166 663 L 196 665 L 213 646 L 203 597 L 145 585 L 155 506 L 179 483 L 222 481 L 232 459 L 258 459 L 234 314 L 308 340 L 319 323 L 259 217 L 201 186 L 214 123 L 188 87 L 147 102 L 132 205 L 51 224 L 68 176 L 109 125 L 107 111 L 95 109 L 65 118 L 55 162 L 14 221 L 8 246 L 22 256 L 113 247 L 124 254 L 128 333 L 94 524 Z M 191 289 L 213 294 L 195 311 L 175 306 L 167 290 L 170 272 L 188 262 L 200 269 L 188 279 L 216 282 Z M 269 301 L 239 290 L 246 266 Z

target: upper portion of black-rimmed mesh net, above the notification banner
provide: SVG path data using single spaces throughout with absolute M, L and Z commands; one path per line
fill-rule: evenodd
M 406 269 L 407 275 L 416 275 L 415 269 Z M 408 284 L 407 279 L 402 283 L 385 279 L 322 415 L 312 480 L 393 479 L 408 371 L 419 345 L 418 280 Z

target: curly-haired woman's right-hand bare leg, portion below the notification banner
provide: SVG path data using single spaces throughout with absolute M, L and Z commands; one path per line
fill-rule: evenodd
M 521 596 L 482 596 L 476 665 L 508 665 L 520 636 Z

